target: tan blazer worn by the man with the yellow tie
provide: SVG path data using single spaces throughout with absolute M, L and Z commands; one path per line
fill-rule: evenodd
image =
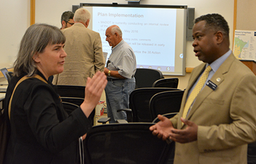
M 189 89 L 204 71 L 200 64 L 191 73 L 179 114 L 173 126 L 184 129 L 180 117 Z M 198 125 L 198 138 L 176 143 L 175 164 L 247 163 L 247 144 L 256 140 L 256 77 L 231 54 L 211 78 L 218 87 L 205 86 L 186 119 Z

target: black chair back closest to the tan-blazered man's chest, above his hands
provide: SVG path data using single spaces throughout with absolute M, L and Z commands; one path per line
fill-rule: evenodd
M 179 112 L 184 91 L 164 91 L 154 94 L 149 102 L 150 114 L 156 118 L 158 114 Z

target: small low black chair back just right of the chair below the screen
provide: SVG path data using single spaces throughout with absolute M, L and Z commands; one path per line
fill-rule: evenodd
M 156 80 L 152 87 L 172 87 L 177 88 L 179 84 L 179 78 L 161 78 Z

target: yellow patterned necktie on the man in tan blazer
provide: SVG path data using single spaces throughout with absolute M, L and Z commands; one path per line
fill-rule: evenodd
M 205 81 L 209 75 L 209 72 L 212 70 L 211 66 L 207 66 L 207 68 L 204 70 L 204 73 L 202 74 L 202 76 L 200 77 L 200 79 L 198 80 L 195 88 L 193 89 L 193 91 L 189 94 L 188 100 L 186 101 L 184 110 L 183 110 L 183 114 L 182 117 L 185 119 L 186 116 L 188 115 L 188 110 L 191 107 L 193 101 L 195 100 L 196 96 L 198 93 L 200 93 L 200 91 L 202 90 L 202 87 L 205 84 Z

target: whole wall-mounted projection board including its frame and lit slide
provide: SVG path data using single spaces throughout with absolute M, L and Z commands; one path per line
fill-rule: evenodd
M 187 6 L 84 3 L 92 13 L 88 28 L 100 33 L 103 52 L 111 54 L 106 29 L 116 24 L 134 50 L 137 68 L 163 75 L 184 75 Z

